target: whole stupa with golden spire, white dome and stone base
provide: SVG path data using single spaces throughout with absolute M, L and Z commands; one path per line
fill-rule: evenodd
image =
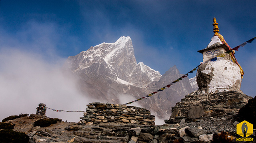
M 252 98 L 240 90 L 244 72 L 234 51 L 218 33 L 216 18 L 213 22 L 214 36 L 205 49 L 198 51 L 203 54 L 203 62 L 196 74 L 199 89 L 172 107 L 166 123 L 233 116 Z

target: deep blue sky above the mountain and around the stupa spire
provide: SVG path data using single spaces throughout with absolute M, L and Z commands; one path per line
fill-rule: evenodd
M 124 35 L 137 63 L 161 74 L 176 65 L 185 74 L 202 62 L 197 51 L 210 42 L 214 17 L 236 47 L 256 36 L 255 8 L 255 0 L 0 0 L 0 51 L 37 54 L 54 65 Z M 256 95 L 255 54 L 256 41 L 236 52 L 245 72 L 241 90 L 250 96 Z

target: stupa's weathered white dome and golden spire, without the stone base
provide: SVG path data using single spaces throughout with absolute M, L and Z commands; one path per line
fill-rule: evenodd
M 203 54 L 203 63 L 198 67 L 196 74 L 198 87 L 199 89 L 219 91 L 240 90 L 241 75 L 243 75 L 240 72 L 240 65 L 233 55 L 234 51 L 228 46 L 223 36 L 218 33 L 216 18 L 213 21 L 214 36 L 205 49 L 198 51 Z M 227 51 L 230 52 L 226 53 Z

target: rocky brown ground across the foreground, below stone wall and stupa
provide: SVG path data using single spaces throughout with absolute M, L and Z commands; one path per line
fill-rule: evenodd
M 226 143 L 236 141 L 233 116 L 226 118 L 200 118 L 176 124 L 138 125 L 132 123 L 69 123 L 58 121 L 48 127 L 34 126 L 45 117 L 31 114 L 5 121 L 14 125 L 14 131 L 26 133 L 29 143 Z M 2 129 L 1 129 L 2 130 Z M 224 132 L 222 132 L 224 131 Z M 247 138 L 254 138 L 254 134 Z M 0 141 L 1 142 L 1 141 Z

